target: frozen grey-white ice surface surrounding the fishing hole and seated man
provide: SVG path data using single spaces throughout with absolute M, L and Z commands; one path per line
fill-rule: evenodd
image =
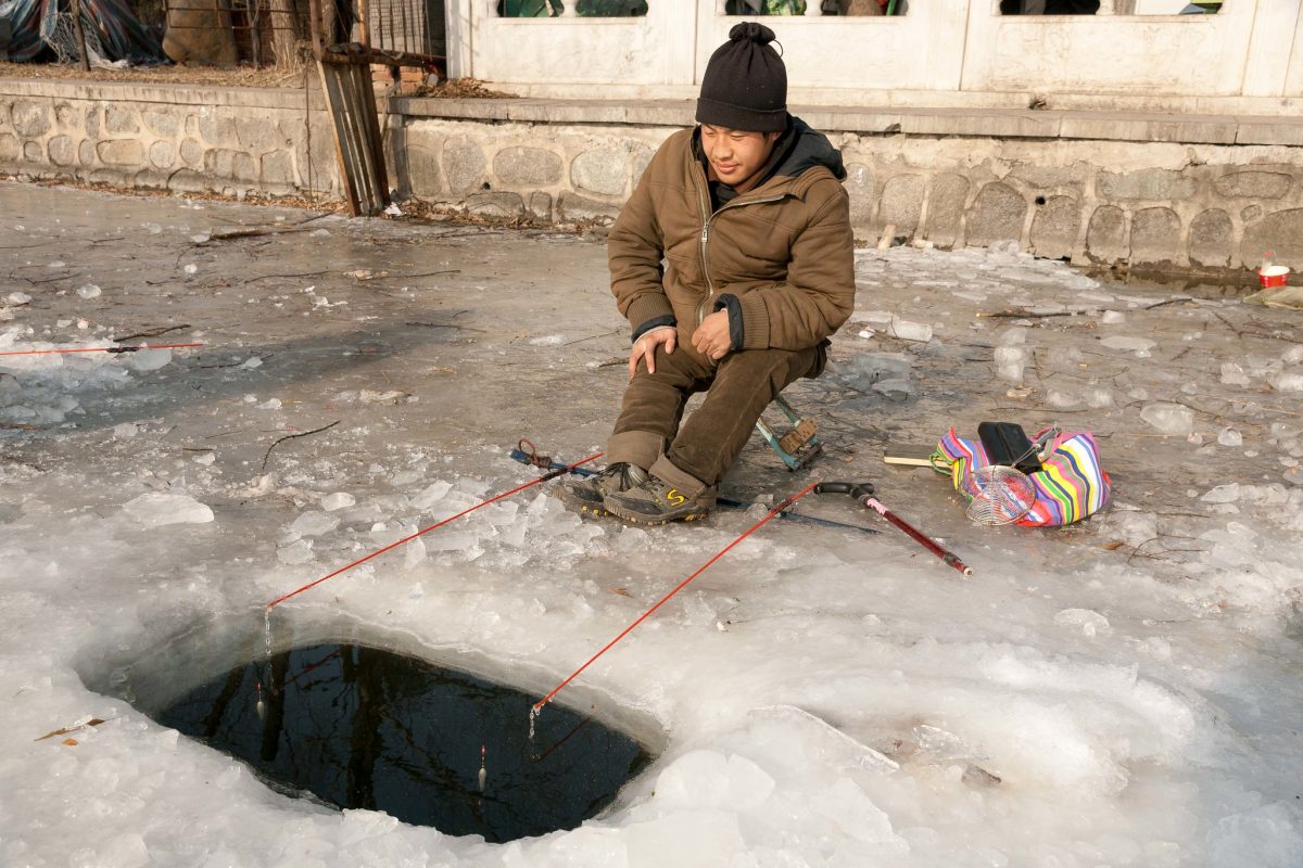
M 0 210 L 27 226 L 25 241 L 57 238 L 60 259 L 128 288 L 83 299 L 72 288 L 87 277 L 60 277 L 63 295 L 33 292 L 40 303 L 9 308 L 0 345 L 103 346 L 192 323 L 225 349 L 152 371 L 132 367 L 133 354 L 0 359 L 0 776 L 21 794 L 3 800 L 0 864 L 1303 864 L 1303 487 L 1287 475 L 1303 458 L 1303 422 L 1296 393 L 1273 387 L 1303 357 L 1291 355 L 1285 320 L 1231 298 L 1149 311 L 1147 297 L 1119 288 L 1114 299 L 1066 264 L 1009 246 L 857 251 L 860 303 L 877 308 L 857 311 L 859 323 L 881 338 L 900 311 L 955 338 L 898 342 L 908 351 L 883 358 L 843 329 L 830 372 L 792 385 L 825 437 L 813 472 L 870 479 L 976 575 L 959 578 L 846 497 L 803 498 L 800 511 L 882 534 L 774 521 L 731 549 L 562 694 L 633 716 L 659 759 L 581 828 L 491 846 L 284 799 L 146 718 L 122 691 L 142 655 L 168 658 L 165 639 L 218 622 L 233 625 L 225 642 L 257 648 L 268 600 L 536 479 L 504 454 L 519 437 L 559 459 L 599 450 L 627 358 L 627 324 L 592 295 L 607 277 L 605 249 L 324 217 L 328 239 L 206 246 L 182 293 L 151 281 L 194 255 L 189 237 L 219 213 L 222 225 L 266 225 L 268 207 L 206 203 L 214 219 L 199 224 L 181 200 L 109 207 L 89 195 L 0 183 Z M 167 229 L 143 247 L 77 241 L 126 236 L 119 224 Z M 34 247 L 46 259 L 25 272 L 14 269 L 33 252 L 0 250 L 0 273 L 59 276 L 44 272 L 55 249 Z M 397 282 L 343 277 L 399 263 L 450 273 L 413 281 L 410 299 Z M 318 297 L 348 306 L 305 318 L 302 278 L 231 280 L 255 267 L 326 272 L 314 277 Z M 1012 329 L 979 316 L 1015 299 L 1127 312 Z M 592 328 L 575 332 L 576 310 Z M 87 331 L 73 332 L 79 320 Z M 435 320 L 459 328 L 431 329 Z M 528 342 L 603 331 L 573 346 Z M 1098 336 L 1154 341 L 1152 359 Z M 1018 390 L 993 363 L 993 350 L 1010 347 L 1027 353 Z M 586 367 L 594 358 L 618 363 Z M 1240 383 L 1221 381 L 1224 363 L 1239 366 Z M 909 384 L 907 401 L 889 405 L 877 390 L 893 380 Z M 1052 390 L 1080 403 L 1055 410 Z M 367 403 L 364 392 L 396 396 Z M 271 397 L 280 410 L 257 409 Z M 1141 415 L 1174 398 L 1199 407 L 1190 433 L 1222 445 L 1164 439 Z M 886 441 L 934 442 L 949 424 L 971 435 L 986 418 L 1093 431 L 1114 502 L 1065 530 L 979 528 L 938 474 L 881 463 Z M 336 419 L 267 457 L 287 431 Z M 137 436 L 117 439 L 121 426 Z M 752 441 L 722 492 L 773 504 L 797 483 Z M 753 523 L 727 510 L 692 527 L 584 521 L 554 485 L 296 596 L 275 610 L 276 640 L 343 626 L 417 656 L 473 660 L 541 696 Z M 119 509 L 142 495 L 184 497 L 146 518 L 205 505 L 212 517 L 169 527 Z M 85 726 L 90 717 L 104 722 Z M 33 740 L 74 725 L 77 744 Z M 473 791 L 472 752 L 452 773 Z

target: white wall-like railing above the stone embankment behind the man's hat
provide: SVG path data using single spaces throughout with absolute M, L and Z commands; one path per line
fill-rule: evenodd
M 530 95 L 689 98 L 745 18 L 724 0 L 648 0 L 631 18 L 503 18 L 498 0 L 447 0 L 450 74 Z M 1102 0 L 1095 16 L 1002 16 L 999 0 L 912 0 L 896 17 L 766 17 L 804 102 L 941 104 L 945 95 L 1303 96 L 1303 0 Z M 1181 4 L 1183 5 L 1183 4 Z M 1141 14 L 1147 13 L 1147 14 Z M 929 96 L 930 95 L 930 96 Z

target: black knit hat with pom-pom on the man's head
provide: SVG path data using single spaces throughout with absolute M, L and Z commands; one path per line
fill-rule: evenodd
M 786 129 L 787 68 L 771 42 L 774 31 L 765 25 L 734 25 L 706 64 L 697 122 L 748 133 Z

